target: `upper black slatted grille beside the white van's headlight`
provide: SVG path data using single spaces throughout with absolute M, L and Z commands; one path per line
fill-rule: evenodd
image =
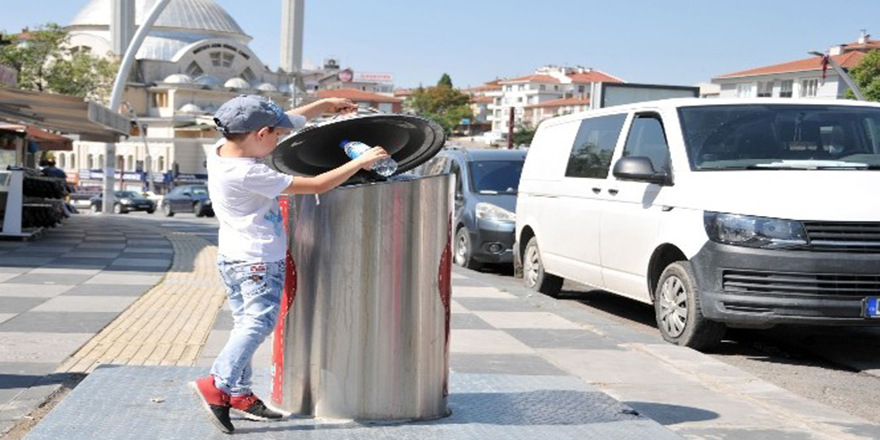
M 804 222 L 813 250 L 880 253 L 880 222 Z

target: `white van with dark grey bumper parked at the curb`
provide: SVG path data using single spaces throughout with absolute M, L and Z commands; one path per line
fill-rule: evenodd
M 526 286 L 654 304 L 679 345 L 880 324 L 880 105 L 670 99 L 547 120 L 516 239 Z

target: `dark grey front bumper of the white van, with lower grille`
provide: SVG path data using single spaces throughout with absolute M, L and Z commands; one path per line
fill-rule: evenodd
M 707 243 L 691 259 L 703 315 L 749 327 L 880 325 L 863 301 L 880 297 L 880 255 L 764 250 Z

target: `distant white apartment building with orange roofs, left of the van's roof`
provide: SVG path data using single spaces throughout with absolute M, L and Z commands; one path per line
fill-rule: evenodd
M 546 117 L 542 112 L 526 112 L 527 108 L 565 98 L 589 100 L 596 85 L 603 82 L 620 83 L 623 80 L 592 68 L 545 66 L 531 75 L 500 81 L 501 91 L 494 96 L 494 104 L 489 106 L 492 131 L 507 133 L 511 112 L 514 127 L 536 127 Z M 541 115 L 540 119 L 535 119 L 534 115 Z

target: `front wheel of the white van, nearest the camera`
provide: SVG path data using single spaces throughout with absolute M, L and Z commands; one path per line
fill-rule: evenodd
M 666 266 L 654 292 L 654 312 L 663 339 L 702 350 L 721 342 L 726 327 L 703 316 L 694 280 L 690 262 Z

